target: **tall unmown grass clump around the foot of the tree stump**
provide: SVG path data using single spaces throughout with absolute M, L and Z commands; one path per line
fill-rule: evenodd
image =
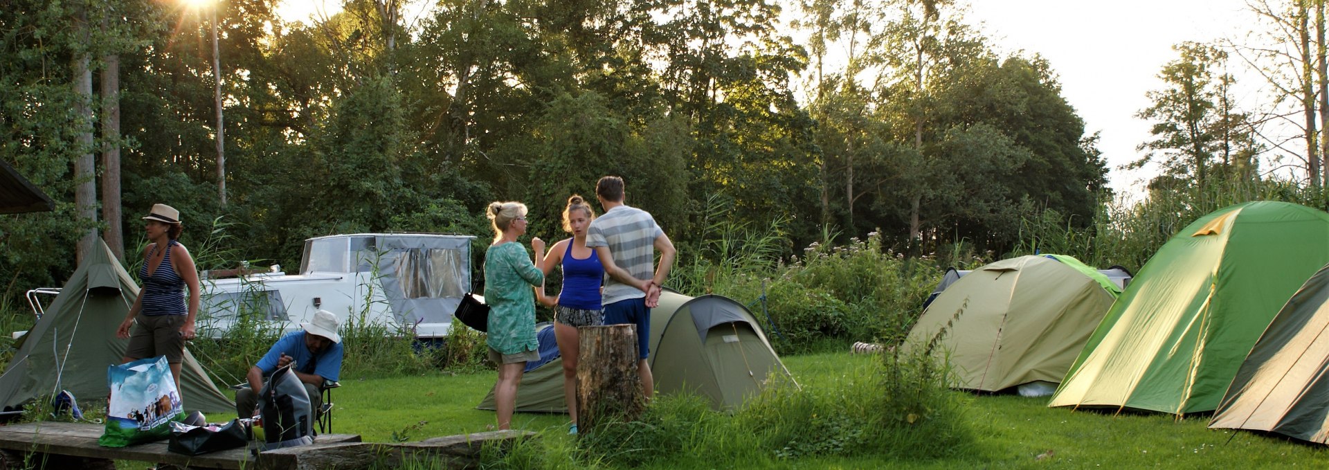
M 829 381 L 779 377 L 732 412 L 696 396 L 653 401 L 637 421 L 583 430 L 574 445 L 528 441 L 490 453 L 493 469 L 768 467 L 812 457 L 929 461 L 971 445 L 962 396 L 948 369 L 922 354 L 880 354 Z

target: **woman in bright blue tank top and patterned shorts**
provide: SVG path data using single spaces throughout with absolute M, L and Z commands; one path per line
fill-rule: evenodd
M 603 324 L 605 312 L 601 308 L 599 287 L 605 279 L 605 267 L 599 264 L 595 251 L 586 247 L 586 228 L 595 212 L 579 195 L 567 198 L 563 208 L 563 231 L 573 238 L 560 240 L 549 248 L 544 260 L 537 258 L 536 267 L 546 275 L 553 267 L 563 270 L 563 287 L 558 295 L 545 296 L 538 288 L 536 296 L 541 304 L 554 307 L 554 337 L 558 340 L 558 353 L 563 358 L 563 398 L 567 400 L 567 416 L 573 420 L 571 433 L 577 433 L 577 327 Z M 545 248 L 545 242 L 530 240 L 536 252 Z

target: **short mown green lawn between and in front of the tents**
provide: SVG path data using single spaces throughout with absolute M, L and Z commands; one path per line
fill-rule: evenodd
M 829 384 L 855 370 L 864 356 L 823 353 L 785 357 L 803 384 Z M 493 412 L 476 404 L 493 386 L 496 373 L 427 374 L 393 378 L 344 377 L 334 396 L 335 431 L 361 434 L 365 441 L 409 439 L 486 430 Z M 961 392 L 956 392 L 961 393 Z M 766 462 L 711 462 L 679 455 L 649 467 L 1325 467 L 1321 446 L 1289 442 L 1249 431 L 1211 430 L 1207 417 L 1174 420 L 1163 414 L 1103 414 L 1050 409 L 1045 398 L 970 396 L 965 420 L 973 443 L 956 457 L 934 461 L 882 461 L 872 455 L 800 458 Z M 423 422 L 423 424 L 421 424 Z M 513 425 L 542 431 L 545 439 L 567 439 L 566 416 L 518 413 Z M 1039 457 L 1043 455 L 1043 457 Z

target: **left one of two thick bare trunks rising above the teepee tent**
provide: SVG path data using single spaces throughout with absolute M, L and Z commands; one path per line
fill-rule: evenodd
M 89 69 L 88 46 L 89 31 L 88 31 L 88 11 L 85 7 L 80 7 L 78 13 L 74 17 L 74 28 L 77 28 L 76 35 L 81 40 L 81 44 L 76 45 L 72 72 L 73 72 L 73 89 L 74 89 L 74 119 L 77 121 L 78 133 L 78 157 L 74 159 L 74 181 L 77 186 L 74 187 L 74 211 L 78 214 L 80 219 L 86 219 L 90 222 L 97 222 L 97 159 L 93 155 L 93 113 L 92 113 L 92 69 Z M 78 239 L 78 247 L 74 250 L 74 258 L 78 263 L 82 263 L 84 256 L 86 256 L 92 248 L 93 243 L 97 240 L 97 228 L 89 227 L 84 236 Z

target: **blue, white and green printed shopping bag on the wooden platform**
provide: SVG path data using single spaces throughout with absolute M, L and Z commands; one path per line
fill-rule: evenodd
M 102 446 L 165 439 L 170 435 L 169 424 L 185 417 L 166 356 L 112 365 L 106 380 L 110 382 L 106 431 L 97 439 Z

